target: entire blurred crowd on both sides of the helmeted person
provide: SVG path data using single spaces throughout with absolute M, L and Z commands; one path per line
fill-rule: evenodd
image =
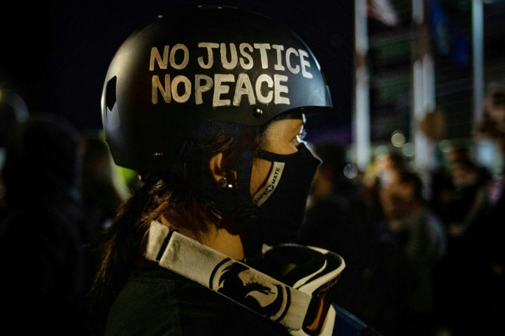
M 100 132 L 55 115 L 2 134 L 0 259 L 8 324 L 89 335 L 89 248 L 134 187 Z M 323 163 L 296 242 L 337 252 L 347 267 L 335 302 L 385 336 L 504 335 L 504 180 L 453 147 L 428 179 L 398 152 L 357 171 L 338 143 L 312 145 Z M 125 191 L 126 190 L 126 191 Z M 9 323 L 9 322 L 12 323 Z M 32 328 L 32 329 L 30 329 Z

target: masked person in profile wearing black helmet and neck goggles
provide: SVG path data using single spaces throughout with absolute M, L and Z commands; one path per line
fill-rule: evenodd
M 270 253 L 317 260 L 321 289 L 265 256 L 294 239 L 320 163 L 303 143 L 305 115 L 330 109 L 312 52 L 266 16 L 199 7 L 126 39 L 102 121 L 115 163 L 141 186 L 101 245 L 92 293 L 106 335 L 320 331 L 344 261 L 317 248 Z M 308 268 L 296 278 L 314 278 Z

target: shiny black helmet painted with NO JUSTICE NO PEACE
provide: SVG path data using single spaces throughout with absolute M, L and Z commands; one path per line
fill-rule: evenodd
M 305 108 L 331 108 L 331 97 L 303 40 L 266 16 L 220 6 L 170 12 L 134 32 L 102 93 L 115 163 L 139 171 L 168 169 L 207 121 L 257 126 Z

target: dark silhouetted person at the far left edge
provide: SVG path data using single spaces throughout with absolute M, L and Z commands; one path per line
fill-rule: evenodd
M 8 134 L 0 222 L 5 331 L 84 335 L 79 141 L 66 120 L 49 114 Z

